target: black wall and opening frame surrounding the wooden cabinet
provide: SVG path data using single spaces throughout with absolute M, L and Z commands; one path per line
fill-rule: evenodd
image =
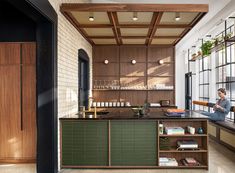
M 0 0 L 0 7 L 15 11 L 1 11 L 0 41 L 36 40 L 37 173 L 57 173 L 57 14 L 47 0 Z

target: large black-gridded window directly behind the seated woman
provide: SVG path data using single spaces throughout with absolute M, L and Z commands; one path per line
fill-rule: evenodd
M 226 33 L 234 33 L 234 25 L 231 25 Z M 225 31 L 220 33 L 223 37 Z M 234 35 L 234 34 L 233 34 Z M 226 42 L 219 50 L 216 51 L 216 88 L 225 88 L 227 99 L 235 105 L 235 56 L 234 43 Z M 219 98 L 217 98 L 218 100 Z M 229 113 L 226 117 L 229 121 L 234 121 L 234 113 Z

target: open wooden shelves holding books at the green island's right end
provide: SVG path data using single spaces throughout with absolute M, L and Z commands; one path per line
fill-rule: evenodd
M 186 126 L 192 126 L 195 129 L 202 127 L 204 129 L 203 134 L 182 134 L 182 135 L 167 135 L 167 134 L 159 134 L 158 141 L 160 138 L 169 138 L 171 148 L 169 150 L 160 149 L 160 142 L 159 142 L 159 158 L 160 157 L 168 157 L 168 158 L 175 158 L 179 164 L 179 166 L 159 166 L 161 168 L 203 168 L 208 169 L 208 131 L 207 131 L 207 121 L 195 121 L 195 120 L 162 120 L 164 127 L 175 127 L 179 126 L 186 129 Z M 177 150 L 176 142 L 177 140 L 186 140 L 186 139 L 194 139 L 197 141 L 199 145 L 198 150 Z M 199 163 L 200 166 L 184 166 L 181 163 L 181 159 L 186 157 L 193 157 Z

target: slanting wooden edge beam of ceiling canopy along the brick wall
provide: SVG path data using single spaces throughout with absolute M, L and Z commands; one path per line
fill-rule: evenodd
M 86 31 L 83 28 L 79 27 L 78 21 L 74 18 L 71 12 L 62 12 L 65 18 L 70 21 L 70 23 L 78 30 L 78 32 L 91 44 L 94 45 L 95 43 L 91 40 L 88 39 L 88 35 Z

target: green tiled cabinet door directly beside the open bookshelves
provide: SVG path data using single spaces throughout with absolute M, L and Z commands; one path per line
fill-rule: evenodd
M 156 166 L 156 122 L 111 121 L 111 165 Z

